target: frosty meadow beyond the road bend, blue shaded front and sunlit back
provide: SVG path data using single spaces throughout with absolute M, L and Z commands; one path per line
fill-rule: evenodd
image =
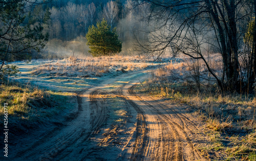
M 158 65 L 139 56 L 70 57 L 61 60 L 15 62 L 18 82 L 55 91 L 86 90 L 117 75 Z

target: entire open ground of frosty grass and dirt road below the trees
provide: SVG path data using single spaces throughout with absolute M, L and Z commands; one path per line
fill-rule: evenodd
M 10 158 L 255 160 L 255 97 L 222 95 L 212 78 L 198 79 L 201 62 L 164 60 L 13 63 L 20 73 L 0 95 L 9 105 Z M 210 77 L 204 67 L 199 73 Z

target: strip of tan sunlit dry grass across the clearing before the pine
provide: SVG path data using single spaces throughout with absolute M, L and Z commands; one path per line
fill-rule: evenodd
M 32 71 L 34 75 L 65 77 L 102 77 L 142 69 L 148 66 L 139 57 L 104 56 L 104 57 L 70 57 L 38 66 Z

